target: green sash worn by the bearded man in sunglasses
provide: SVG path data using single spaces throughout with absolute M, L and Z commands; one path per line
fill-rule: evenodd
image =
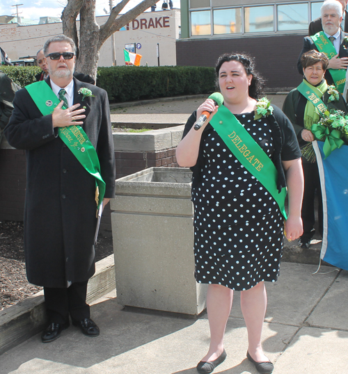
M 31 83 L 25 87 L 42 115 L 52 114 L 59 104 L 59 99 L 54 95 L 52 88 L 45 81 Z M 65 106 L 63 106 L 65 108 Z M 58 136 L 77 158 L 79 163 L 95 177 L 95 201 L 97 207 L 103 201 L 105 182 L 100 174 L 100 163 L 93 144 L 80 126 L 59 127 Z

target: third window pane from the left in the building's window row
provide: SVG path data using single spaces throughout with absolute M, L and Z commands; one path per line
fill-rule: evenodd
M 255 6 L 244 8 L 245 32 L 264 33 L 274 31 L 274 7 Z

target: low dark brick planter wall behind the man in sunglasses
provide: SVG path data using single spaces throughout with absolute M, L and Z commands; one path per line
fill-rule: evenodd
M 160 152 L 115 152 L 116 178 L 152 166 L 177 167 L 175 148 Z M 0 149 L 0 220 L 22 221 L 26 186 L 26 156 L 19 149 Z M 104 209 L 100 232 L 111 236 L 111 210 Z

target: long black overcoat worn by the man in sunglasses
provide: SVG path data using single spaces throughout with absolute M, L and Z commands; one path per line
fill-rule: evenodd
M 46 80 L 50 84 L 49 79 Z M 82 101 L 86 87 L 95 97 Z M 74 79 L 74 104 L 86 106 L 82 128 L 97 150 L 105 197 L 114 196 L 115 161 L 109 101 L 101 88 Z M 8 143 L 26 149 L 24 252 L 29 282 L 67 287 L 95 273 L 95 179 L 81 166 L 25 90 L 16 92 L 5 129 Z

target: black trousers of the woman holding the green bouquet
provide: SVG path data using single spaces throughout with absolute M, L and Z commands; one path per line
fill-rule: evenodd
M 323 202 L 322 188 L 320 188 L 319 170 L 317 162 L 303 162 L 304 191 L 301 216 L 303 220 L 303 234 L 301 238 L 311 239 L 315 234 L 315 190 L 318 197 L 319 234 L 323 235 Z

